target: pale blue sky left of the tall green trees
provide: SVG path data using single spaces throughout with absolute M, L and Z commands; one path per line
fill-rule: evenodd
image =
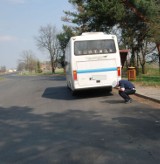
M 68 0 L 0 0 L 0 67 L 15 69 L 24 51 L 49 60 L 35 42 L 40 27 L 51 24 L 62 30 L 63 11 L 71 10 Z

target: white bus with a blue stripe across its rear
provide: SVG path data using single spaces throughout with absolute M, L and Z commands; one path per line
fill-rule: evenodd
M 112 91 L 121 79 L 121 59 L 115 35 L 87 32 L 70 38 L 65 51 L 67 86 L 77 90 L 105 87 Z

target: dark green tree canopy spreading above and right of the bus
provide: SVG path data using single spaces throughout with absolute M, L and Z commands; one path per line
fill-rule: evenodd
M 79 32 L 121 29 L 123 47 L 132 51 L 131 64 L 136 66 L 136 55 L 147 52 L 146 42 L 159 42 L 159 0 L 69 0 L 75 7 L 66 11 L 65 21 L 76 24 Z M 157 44 L 157 47 L 160 46 Z M 145 63 L 145 62 L 142 62 Z M 144 64 L 143 64 L 144 66 Z

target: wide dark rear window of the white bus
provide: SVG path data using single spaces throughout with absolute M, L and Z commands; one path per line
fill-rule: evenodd
M 113 39 L 75 41 L 75 55 L 94 55 L 115 53 L 116 47 Z

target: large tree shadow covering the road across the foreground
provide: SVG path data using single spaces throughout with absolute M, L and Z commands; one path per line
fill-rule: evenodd
M 63 113 L 38 115 L 33 110 L 0 107 L 1 163 L 160 162 L 159 126 L 148 118 L 107 120 L 93 111 L 68 109 Z

